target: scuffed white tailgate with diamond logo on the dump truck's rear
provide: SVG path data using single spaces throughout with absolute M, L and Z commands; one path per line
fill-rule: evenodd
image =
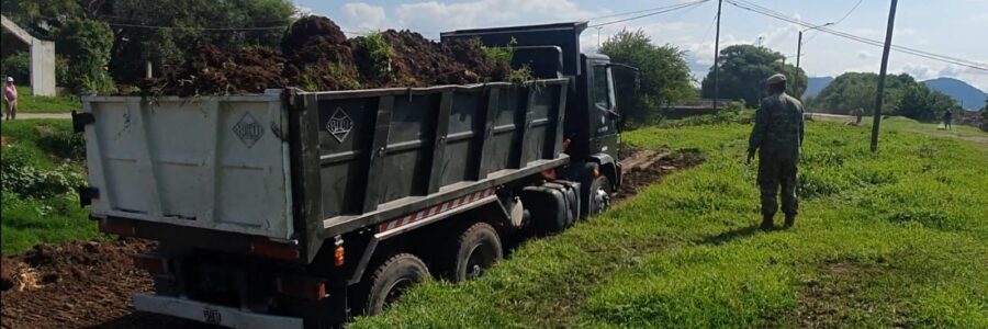
M 288 134 L 271 95 L 83 99 L 96 217 L 288 239 Z

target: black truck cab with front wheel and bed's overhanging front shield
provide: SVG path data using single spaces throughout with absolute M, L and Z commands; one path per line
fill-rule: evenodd
M 442 39 L 475 38 L 486 47 L 510 47 L 515 69 L 527 68 L 535 78 L 570 79 L 563 141 L 570 166 L 561 177 L 581 183 L 582 216 L 607 208 L 621 183 L 621 111 L 615 86 L 637 86 L 637 69 L 613 64 L 603 54 L 581 52 L 580 34 L 586 22 L 513 27 L 459 30 Z M 628 81 L 616 81 L 615 77 Z

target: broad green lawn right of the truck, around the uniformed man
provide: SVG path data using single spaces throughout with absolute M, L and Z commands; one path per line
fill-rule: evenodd
M 351 327 L 988 327 L 988 143 L 884 127 L 876 155 L 868 128 L 808 123 L 800 216 L 771 232 L 742 162 L 750 126 L 628 133 L 707 162 Z

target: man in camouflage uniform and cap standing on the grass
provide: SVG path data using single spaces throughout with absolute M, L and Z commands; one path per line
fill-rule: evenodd
M 782 186 L 782 209 L 786 227 L 796 220 L 796 167 L 802 147 L 802 103 L 786 94 L 786 76 L 768 78 L 768 97 L 755 113 L 755 125 L 748 144 L 748 162 L 759 151 L 759 189 L 762 193 L 762 228 L 773 228 L 778 209 L 776 197 Z

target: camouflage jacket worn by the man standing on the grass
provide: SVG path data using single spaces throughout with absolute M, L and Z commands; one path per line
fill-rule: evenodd
M 762 99 L 748 152 L 761 149 L 762 157 L 799 157 L 802 147 L 802 103 L 781 93 Z

